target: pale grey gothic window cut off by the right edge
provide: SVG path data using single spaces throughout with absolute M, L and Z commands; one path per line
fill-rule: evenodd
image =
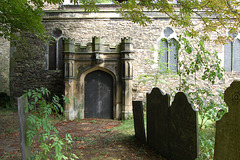
M 235 37 L 233 37 L 235 38 Z M 240 40 L 235 39 L 224 45 L 224 68 L 225 71 L 240 72 Z

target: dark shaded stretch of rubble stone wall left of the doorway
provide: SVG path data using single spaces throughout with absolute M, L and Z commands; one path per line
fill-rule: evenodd
M 24 90 L 40 87 L 47 87 L 58 96 L 63 95 L 63 72 L 45 69 L 45 42 L 30 34 L 22 36 L 24 41 L 11 42 L 11 97 L 19 97 Z

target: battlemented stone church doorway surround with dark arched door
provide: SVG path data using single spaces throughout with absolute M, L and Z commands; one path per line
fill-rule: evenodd
M 82 46 L 63 40 L 67 119 L 132 117 L 132 43 L 122 38 L 116 47 L 93 37 Z

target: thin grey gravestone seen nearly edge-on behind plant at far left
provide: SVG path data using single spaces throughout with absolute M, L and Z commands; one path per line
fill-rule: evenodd
M 21 145 L 21 154 L 22 160 L 27 160 L 30 158 L 30 146 L 26 144 L 26 119 L 27 115 L 24 111 L 24 106 L 26 106 L 28 100 L 26 97 L 21 96 L 18 98 L 18 117 L 19 117 L 19 128 L 20 128 L 20 145 Z

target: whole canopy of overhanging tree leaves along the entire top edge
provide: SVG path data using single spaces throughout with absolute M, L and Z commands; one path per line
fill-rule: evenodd
M 1 0 L 0 1 L 0 37 L 6 39 L 17 38 L 14 32 L 29 31 L 40 38 L 46 38 L 46 31 L 42 24 L 44 3 L 62 4 L 64 0 Z M 110 2 L 110 0 L 70 0 L 88 12 L 97 12 L 96 3 Z M 226 37 L 219 31 L 229 30 L 236 33 L 240 25 L 238 0 L 113 0 L 119 6 L 121 13 L 127 20 L 140 25 L 151 23 L 151 17 L 143 11 L 159 11 L 169 16 L 171 24 L 185 28 L 191 36 L 199 36 L 198 27 L 192 17 L 197 16 L 203 24 L 202 31 L 218 32 L 218 42 L 226 42 Z M 215 17 L 215 18 L 213 18 Z M 231 23 L 229 23 L 231 21 Z

